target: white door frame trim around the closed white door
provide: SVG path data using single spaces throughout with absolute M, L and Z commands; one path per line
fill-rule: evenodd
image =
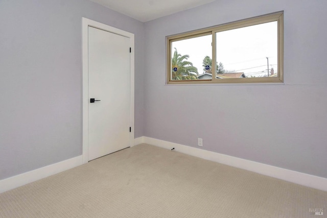
M 82 17 L 82 61 L 83 61 L 83 163 L 88 162 L 88 27 L 122 35 L 130 39 L 130 147 L 134 146 L 134 34 L 103 23 Z

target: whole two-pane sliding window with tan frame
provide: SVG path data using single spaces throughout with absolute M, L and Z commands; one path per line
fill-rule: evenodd
M 167 37 L 167 83 L 282 83 L 283 12 Z

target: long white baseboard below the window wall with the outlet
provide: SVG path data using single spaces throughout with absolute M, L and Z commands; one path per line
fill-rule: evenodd
M 259 173 L 277 179 L 282 179 L 299 185 L 304 185 L 307 187 L 327 191 L 327 178 L 291 171 L 289 169 L 279 168 L 264 163 L 254 162 L 246 159 L 232 157 L 216 152 L 206 151 L 190 146 L 184 146 L 182 144 L 177 144 L 145 136 L 138 138 L 138 141 L 142 141 L 142 143 L 152 144 L 153 146 L 165 149 L 175 148 L 174 150 L 180 153 L 192 155 L 206 160 L 211 160 L 229 166 L 246 169 L 247 171 Z

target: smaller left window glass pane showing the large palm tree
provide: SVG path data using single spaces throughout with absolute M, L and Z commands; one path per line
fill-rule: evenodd
M 212 65 L 212 35 L 172 42 L 171 80 L 212 79 L 204 77 L 205 66 Z M 206 60 L 204 63 L 203 61 Z M 209 63 L 210 62 L 210 63 Z M 202 75 L 202 76 L 200 76 Z

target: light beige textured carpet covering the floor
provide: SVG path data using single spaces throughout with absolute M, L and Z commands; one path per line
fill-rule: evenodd
M 0 217 L 327 217 L 327 192 L 140 144 L 1 193 Z

